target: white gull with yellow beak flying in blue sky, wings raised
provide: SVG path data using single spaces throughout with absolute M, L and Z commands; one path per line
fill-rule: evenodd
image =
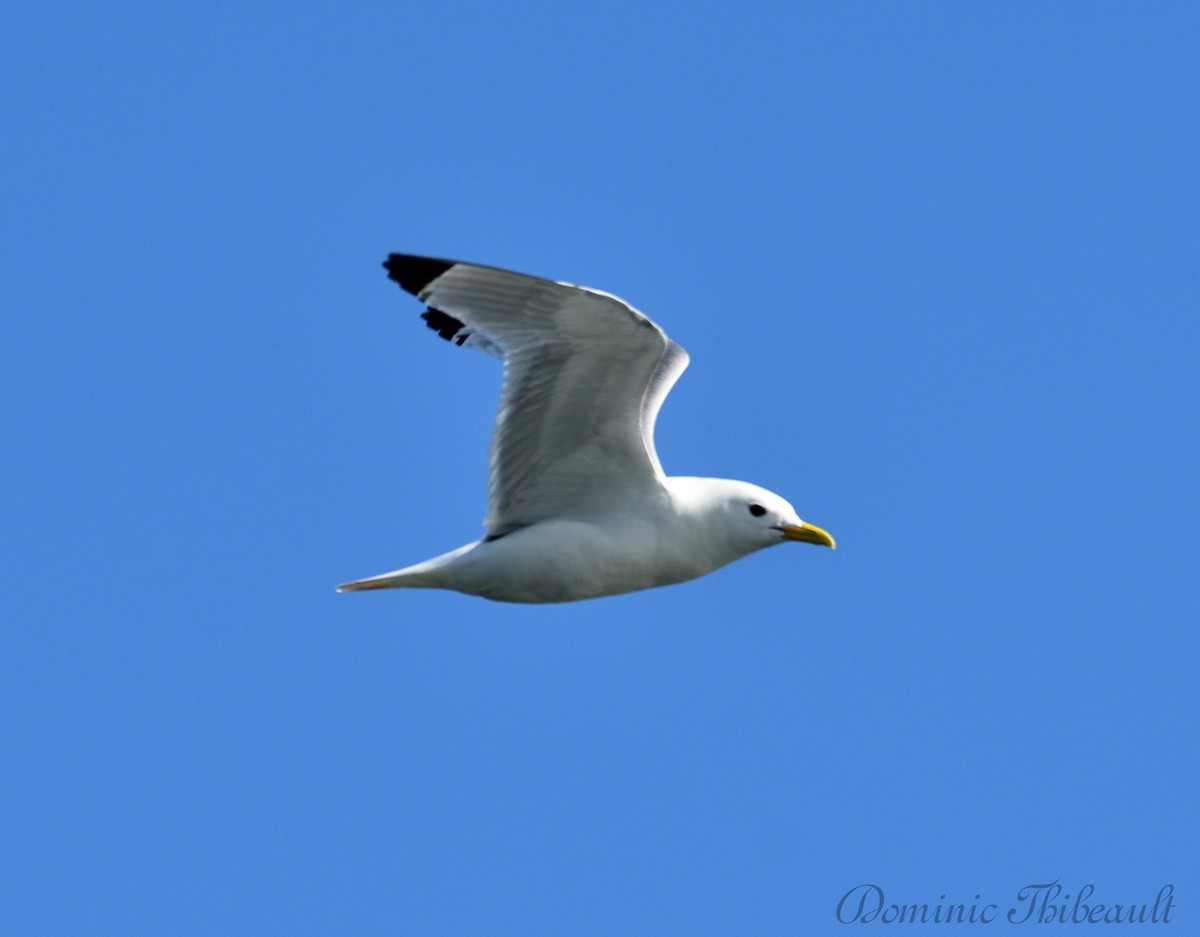
M 384 266 L 438 335 L 504 361 L 486 534 L 338 591 L 568 602 L 694 579 L 785 540 L 834 546 L 766 488 L 664 474 L 654 421 L 688 353 L 632 306 L 456 260 L 390 254 Z

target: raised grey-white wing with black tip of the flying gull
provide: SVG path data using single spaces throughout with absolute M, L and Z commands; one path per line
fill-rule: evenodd
M 654 422 L 688 353 L 599 290 L 456 260 L 390 254 L 443 338 L 504 360 L 490 449 L 488 537 L 588 517 L 658 487 Z

